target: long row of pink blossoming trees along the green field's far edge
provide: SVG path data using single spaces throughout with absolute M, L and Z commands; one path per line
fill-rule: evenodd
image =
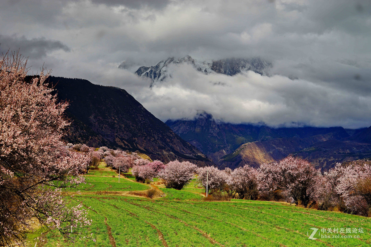
M 231 198 L 286 200 L 303 207 L 321 210 L 338 207 L 345 213 L 370 216 L 371 167 L 368 164 L 342 166 L 338 163 L 321 173 L 308 161 L 289 156 L 259 168 L 245 165 L 220 170 L 214 166 L 197 167 L 189 161 L 151 162 L 136 153 L 106 147 L 92 151 L 91 155 L 103 158 L 108 166 L 120 167 L 123 172 L 132 168 L 133 176 L 141 183 L 158 177 L 167 188 L 181 190 L 191 178 L 197 177 L 203 187 L 209 187 L 209 193 L 224 191 Z

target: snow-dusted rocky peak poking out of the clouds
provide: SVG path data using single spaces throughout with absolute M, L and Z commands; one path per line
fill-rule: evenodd
M 209 73 L 221 73 L 228 76 L 233 76 L 235 74 L 241 73 L 243 71 L 254 71 L 262 75 L 268 75 L 268 70 L 272 67 L 272 64 L 267 63 L 266 61 L 256 57 L 252 59 L 221 59 L 213 61 L 197 61 L 191 56 L 185 56 L 182 58 L 170 57 L 166 60 L 158 62 L 155 66 L 142 66 L 139 67 L 135 74 L 140 77 L 148 77 L 152 80 L 150 87 L 158 81 L 165 80 L 168 77 L 171 77 L 171 74 L 168 72 L 168 66 L 170 64 L 182 64 L 187 63 L 191 64 L 195 70 L 200 71 L 204 74 Z M 123 68 L 124 65 L 120 65 L 119 68 Z

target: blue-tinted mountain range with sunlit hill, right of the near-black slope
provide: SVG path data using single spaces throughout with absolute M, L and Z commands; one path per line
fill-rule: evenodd
M 324 169 L 336 162 L 371 157 L 371 145 L 364 140 L 371 128 L 354 131 L 354 136 L 349 136 L 342 127 L 270 128 L 230 124 L 218 122 L 207 113 L 199 114 L 195 120 L 168 120 L 166 124 L 220 168 L 259 166 L 289 154 L 308 158 Z M 345 147 L 348 149 L 344 150 Z

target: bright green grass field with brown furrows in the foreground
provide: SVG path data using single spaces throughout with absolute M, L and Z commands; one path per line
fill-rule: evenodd
M 82 202 L 93 220 L 88 234 L 96 239 L 65 241 L 57 231 L 43 234 L 41 246 L 370 246 L 369 218 L 311 210 L 269 201 L 203 201 L 203 189 L 192 183 L 177 191 L 160 189 L 165 197 L 98 195 L 88 191 L 146 190 L 145 184 L 118 177 L 114 171 L 96 170 L 81 186 Z M 93 186 L 93 187 L 91 187 Z M 318 228 L 314 238 L 308 238 Z M 363 233 L 321 233 L 322 228 L 362 228 Z M 330 238 L 321 238 L 322 235 Z M 344 238 L 344 236 L 359 238 Z M 332 238 L 334 236 L 334 238 Z M 35 237 L 32 235 L 32 237 Z M 32 246 L 35 241 L 31 241 Z M 40 245 L 38 245 L 40 246 Z

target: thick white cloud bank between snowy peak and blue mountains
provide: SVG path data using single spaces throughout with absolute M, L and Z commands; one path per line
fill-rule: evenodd
M 132 91 L 161 120 L 193 119 L 198 110 L 231 123 L 269 126 L 343 126 L 371 124 L 371 97 L 308 80 L 261 76 L 202 74 L 188 64 L 168 69 L 172 78 Z M 365 111 L 366 110 L 366 111 Z

